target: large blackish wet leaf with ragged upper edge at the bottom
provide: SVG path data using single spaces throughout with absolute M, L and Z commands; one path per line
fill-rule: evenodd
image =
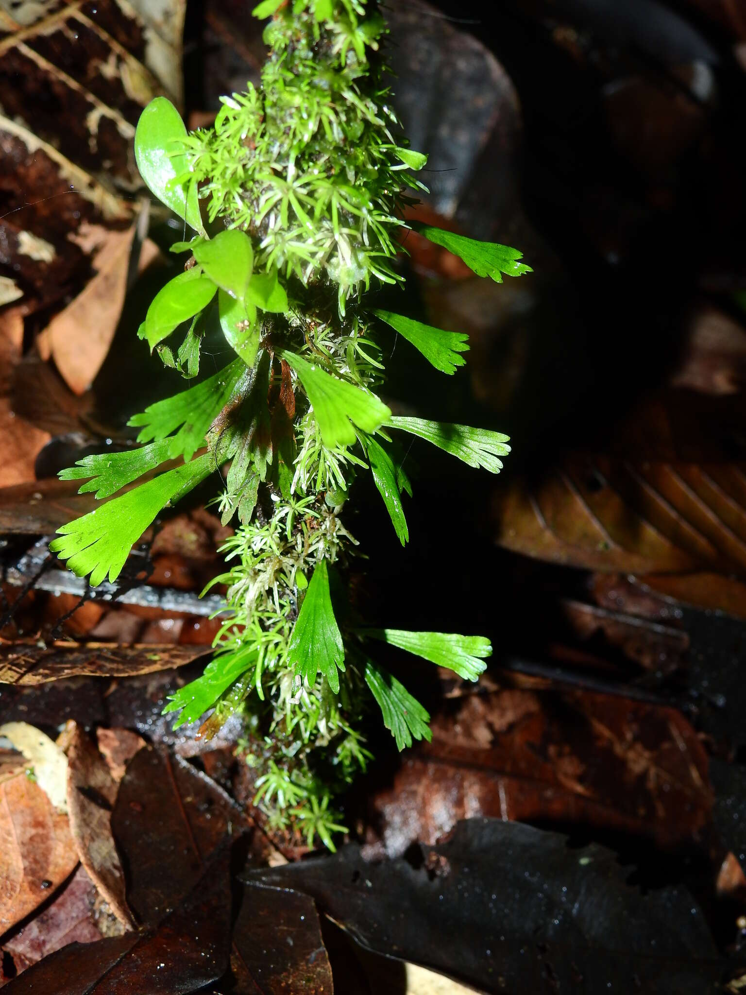
M 729 965 L 702 907 L 634 871 L 597 844 L 470 819 L 397 861 L 367 863 L 349 846 L 245 877 L 304 892 L 363 946 L 479 991 L 717 991 Z

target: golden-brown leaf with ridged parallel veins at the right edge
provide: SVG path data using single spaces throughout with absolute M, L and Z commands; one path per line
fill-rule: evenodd
M 574 458 L 537 488 L 496 495 L 497 541 L 593 570 L 746 572 L 746 481 L 736 465 Z

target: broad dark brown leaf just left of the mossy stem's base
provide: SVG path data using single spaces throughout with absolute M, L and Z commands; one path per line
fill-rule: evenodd
M 152 747 L 127 766 L 111 815 L 127 904 L 153 922 L 192 888 L 210 855 L 248 825 L 236 803 L 185 760 Z

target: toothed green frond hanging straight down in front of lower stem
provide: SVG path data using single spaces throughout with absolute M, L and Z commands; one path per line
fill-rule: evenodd
M 310 687 L 321 671 L 334 694 L 339 692 L 337 671 L 344 671 L 344 644 L 331 604 L 326 560 L 316 565 L 308 584 L 287 648 L 287 662 Z

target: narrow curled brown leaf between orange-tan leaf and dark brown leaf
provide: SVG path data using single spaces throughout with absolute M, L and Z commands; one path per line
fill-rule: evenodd
M 92 740 L 76 726 L 68 750 L 68 811 L 81 863 L 114 915 L 126 926 L 132 917 L 124 897 L 124 874 L 111 833 L 118 784 Z

